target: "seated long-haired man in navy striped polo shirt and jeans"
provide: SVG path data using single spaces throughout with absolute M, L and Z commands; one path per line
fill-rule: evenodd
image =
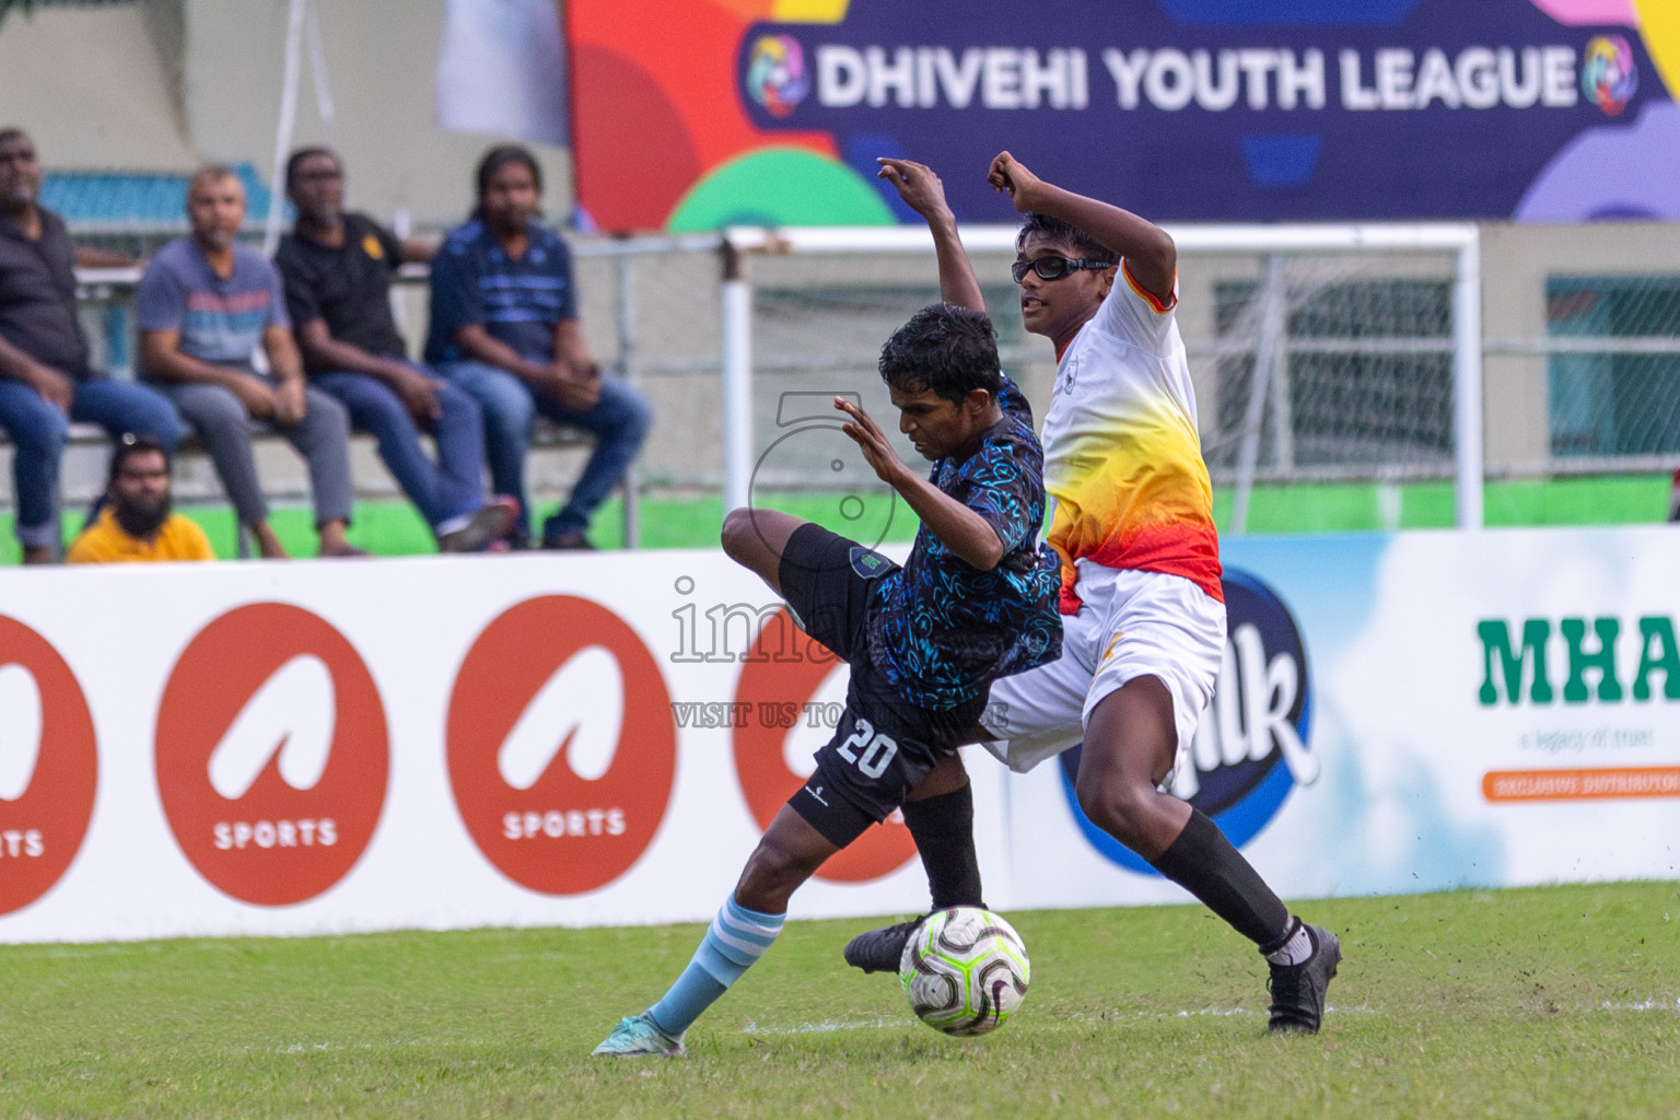
M 432 260 L 425 359 L 484 408 L 491 482 L 519 500 L 514 544 L 529 542 L 524 460 L 538 411 L 596 437 L 595 450 L 543 547 L 593 547 L 590 517 L 642 448 L 652 408 L 623 381 L 603 381 L 578 327 L 571 250 L 538 222 L 543 175 L 517 144 L 479 163 L 479 207 Z

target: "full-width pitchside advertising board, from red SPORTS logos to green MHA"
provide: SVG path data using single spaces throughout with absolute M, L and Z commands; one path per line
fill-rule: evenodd
M 1680 536 L 1231 541 L 1176 791 L 1285 897 L 1677 878 Z M 717 551 L 0 573 L 0 940 L 704 920 L 845 667 Z M 1183 902 L 968 749 L 986 898 Z M 890 819 L 795 917 L 909 913 Z

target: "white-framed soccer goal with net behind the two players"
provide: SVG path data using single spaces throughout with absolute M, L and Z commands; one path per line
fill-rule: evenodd
M 1169 227 L 1171 228 L 1171 227 Z M 1480 524 L 1477 233 L 1468 225 L 1183 227 L 1179 329 L 1203 452 L 1245 529 L 1255 484 L 1452 479 L 1458 522 Z M 732 230 L 749 250 L 746 349 L 751 448 L 790 421 L 790 400 L 879 396 L 882 341 L 937 299 L 919 228 Z M 1053 354 L 1026 336 L 1008 279 L 1015 230 L 963 240 L 998 327 L 1000 356 L 1033 401 Z M 741 359 L 741 354 L 738 354 Z M 791 396 L 790 396 L 791 395 Z M 771 468 L 773 467 L 773 468 Z M 823 445 L 759 463 L 756 485 L 832 484 Z M 727 489 L 727 482 L 726 482 Z

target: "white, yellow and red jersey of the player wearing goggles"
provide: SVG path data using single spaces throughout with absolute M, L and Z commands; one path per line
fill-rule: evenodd
M 1074 561 L 1082 559 L 1183 576 L 1225 598 L 1176 306 L 1176 279 L 1163 304 L 1122 260 L 1114 289 L 1057 361 L 1043 448 L 1063 613 L 1079 608 Z

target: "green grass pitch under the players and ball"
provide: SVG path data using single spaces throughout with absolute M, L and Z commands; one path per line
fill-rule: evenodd
M 1673 1117 L 1680 883 L 1302 907 L 1346 960 L 1317 1038 L 1196 907 L 1016 912 L 1026 1004 L 912 1023 L 795 922 L 685 1060 L 591 1060 L 699 925 L 13 945 L 0 1117 Z

